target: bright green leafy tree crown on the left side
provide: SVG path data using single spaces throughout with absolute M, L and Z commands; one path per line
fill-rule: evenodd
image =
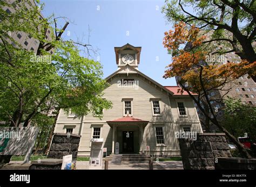
M 111 107 L 111 102 L 102 98 L 107 83 L 101 64 L 81 52 L 81 47 L 89 50 L 90 45 L 62 38 L 68 21 L 58 28 L 58 18 L 43 18 L 43 4 L 37 1 L 36 5 L 17 1 L 15 12 L 9 13 L 3 8 L 11 5 L 0 1 L 1 120 L 10 121 L 11 126 L 28 126 L 38 114 L 59 109 L 71 110 L 77 117 L 92 112 L 101 118 L 103 112 L 96 106 Z M 46 38 L 47 30 L 51 39 Z M 17 32 L 39 41 L 37 56 L 12 38 Z

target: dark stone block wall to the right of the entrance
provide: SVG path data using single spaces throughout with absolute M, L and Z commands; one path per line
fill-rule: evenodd
M 232 157 L 225 133 L 198 133 L 197 140 L 179 139 L 184 169 L 214 169 L 217 157 Z

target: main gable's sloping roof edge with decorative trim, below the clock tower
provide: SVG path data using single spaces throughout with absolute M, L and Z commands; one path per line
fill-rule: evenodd
M 127 71 L 126 71 L 125 69 L 127 69 Z M 165 88 L 163 85 L 161 85 L 161 84 L 159 84 L 158 82 L 152 80 L 152 78 L 146 76 L 145 74 L 143 74 L 142 72 L 140 72 L 138 69 L 133 68 L 133 67 L 130 66 L 129 64 L 127 64 L 126 66 L 124 66 L 124 67 L 118 69 L 117 71 L 114 71 L 114 73 L 112 73 L 111 75 L 107 76 L 107 77 L 105 78 L 105 80 L 109 80 L 110 78 L 112 78 L 113 76 L 117 75 L 118 73 L 122 73 L 122 74 L 129 74 L 129 73 L 134 74 L 134 73 L 137 73 L 137 74 L 143 76 L 145 79 L 149 80 L 150 82 L 154 83 L 155 85 L 157 85 L 157 86 L 160 87 L 161 89 L 165 90 L 167 93 L 170 93 L 171 95 L 174 94 L 171 90 Z

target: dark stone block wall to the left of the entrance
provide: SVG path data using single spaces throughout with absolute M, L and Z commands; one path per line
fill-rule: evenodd
M 79 142 L 80 135 L 55 133 L 47 157 L 52 159 L 62 159 L 63 156 L 72 154 L 72 159 L 76 160 Z

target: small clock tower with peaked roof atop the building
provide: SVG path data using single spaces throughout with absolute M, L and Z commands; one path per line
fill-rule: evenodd
M 138 69 L 141 50 L 142 47 L 134 47 L 130 44 L 126 44 L 122 47 L 114 47 L 118 69 L 126 65 Z

